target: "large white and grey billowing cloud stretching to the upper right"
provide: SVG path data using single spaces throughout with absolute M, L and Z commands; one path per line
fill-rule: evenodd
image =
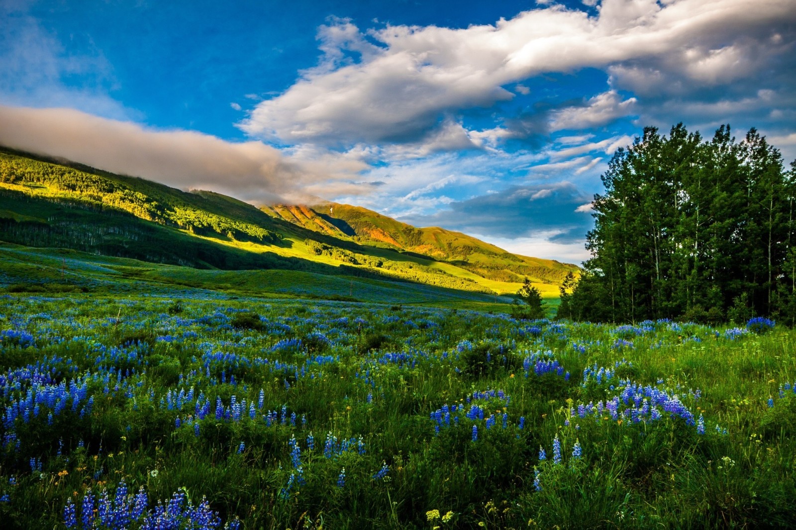
M 240 127 L 287 144 L 418 142 L 462 109 L 513 99 L 505 87 L 525 92 L 519 83 L 544 72 L 592 67 L 610 71 L 616 86 L 638 88 L 645 73 L 712 86 L 751 76 L 785 53 L 796 21 L 790 0 L 604 0 L 595 10 L 551 5 L 466 29 L 363 32 L 334 19 L 319 32 L 318 66 L 260 102 Z M 553 127 L 595 127 L 634 103 L 606 92 L 560 111 Z

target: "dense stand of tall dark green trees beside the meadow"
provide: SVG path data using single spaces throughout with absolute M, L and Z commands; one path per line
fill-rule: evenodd
M 680 123 L 619 149 L 595 195 L 592 258 L 561 316 L 638 322 L 796 316 L 796 162 L 751 129 L 710 140 Z

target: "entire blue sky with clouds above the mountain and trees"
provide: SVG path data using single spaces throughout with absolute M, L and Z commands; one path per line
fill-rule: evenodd
M 796 1 L 0 4 L 0 143 L 587 258 L 642 127 L 796 157 Z

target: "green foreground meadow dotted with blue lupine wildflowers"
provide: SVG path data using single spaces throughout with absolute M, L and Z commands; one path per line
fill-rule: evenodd
M 796 335 L 766 319 L 0 298 L 4 528 L 796 523 Z

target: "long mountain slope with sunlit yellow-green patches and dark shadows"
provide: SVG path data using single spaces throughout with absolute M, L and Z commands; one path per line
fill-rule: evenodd
M 578 270 L 356 206 L 256 208 L 8 149 L 0 149 L 0 240 L 197 269 L 305 271 L 485 294 L 513 294 L 528 276 L 554 297 Z

